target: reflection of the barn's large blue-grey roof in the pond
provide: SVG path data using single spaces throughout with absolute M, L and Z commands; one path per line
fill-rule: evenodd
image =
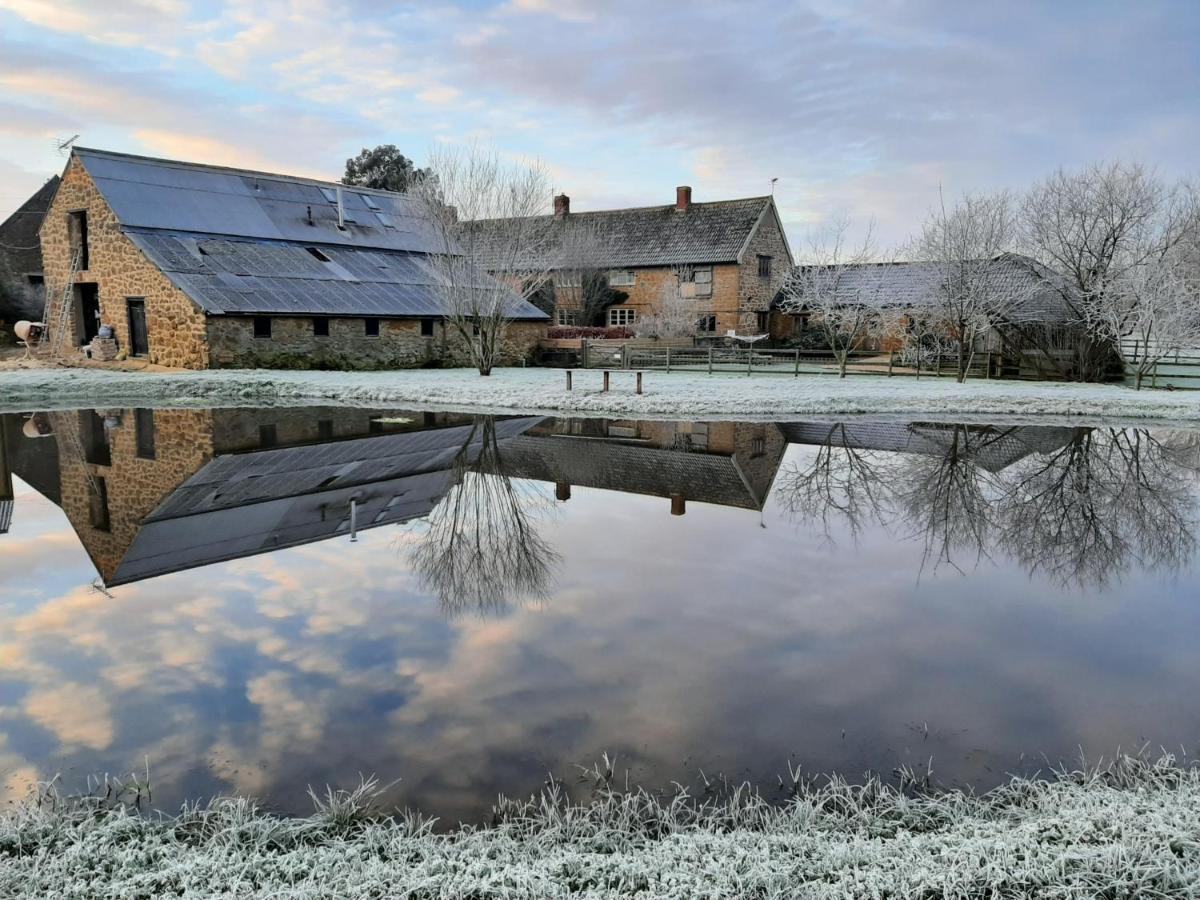
M 502 446 L 540 418 L 498 420 Z M 143 520 L 109 586 L 326 540 L 428 515 L 472 426 L 218 456 Z M 468 457 L 478 454 L 476 432 Z

